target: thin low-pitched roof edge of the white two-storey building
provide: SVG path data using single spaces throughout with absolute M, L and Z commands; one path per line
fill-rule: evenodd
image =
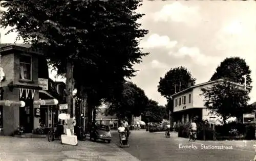
M 197 84 L 197 85 L 194 85 L 194 86 L 190 86 L 190 87 L 188 87 L 188 88 L 186 88 L 186 89 L 184 89 L 184 90 L 182 90 L 182 91 L 179 91 L 179 92 L 173 94 L 171 97 L 178 96 L 178 95 L 180 95 L 180 94 L 183 94 L 183 93 L 185 93 L 185 92 L 187 92 L 187 91 L 189 91 L 189 90 L 191 90 L 191 89 L 197 88 L 197 87 L 201 87 L 201 86 L 205 86 L 205 85 L 210 85 L 210 84 L 214 84 L 214 83 L 217 83 L 217 82 L 223 82 L 223 81 L 224 81 L 224 79 L 217 79 L 217 80 L 215 80 L 215 81 L 209 81 L 209 82 Z M 227 82 L 229 82 L 229 81 L 227 81 Z M 233 84 L 233 85 L 240 86 L 240 87 L 244 87 L 244 85 L 242 85 L 242 84 L 238 84 L 238 83 L 234 83 L 234 82 L 229 82 L 229 83 L 231 83 L 231 84 Z M 251 86 L 246 86 L 246 88 L 247 88 L 247 89 L 252 89 Z

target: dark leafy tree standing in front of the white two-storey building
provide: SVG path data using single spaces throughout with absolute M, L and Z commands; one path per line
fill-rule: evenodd
M 248 111 L 248 91 L 229 81 L 220 81 L 210 87 L 202 88 L 204 105 L 210 114 L 222 116 L 223 122 L 230 117 L 240 118 Z

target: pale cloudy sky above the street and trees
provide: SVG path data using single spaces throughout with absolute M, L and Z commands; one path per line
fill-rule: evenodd
M 157 86 L 171 68 L 186 67 L 199 84 L 209 81 L 226 57 L 241 57 L 251 69 L 250 102 L 256 101 L 255 2 L 144 0 L 138 12 L 145 14 L 139 22 L 149 31 L 140 47 L 150 55 L 134 66 L 139 71 L 131 81 L 149 98 L 166 103 Z M 2 43 L 15 41 L 16 33 L 4 35 L 7 30 L 0 29 Z

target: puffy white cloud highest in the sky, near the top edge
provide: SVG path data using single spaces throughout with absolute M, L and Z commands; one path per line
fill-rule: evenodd
M 163 8 L 154 14 L 155 21 L 172 20 L 175 22 L 185 22 L 189 25 L 197 24 L 201 18 L 199 7 L 184 6 L 179 2 L 164 5 Z

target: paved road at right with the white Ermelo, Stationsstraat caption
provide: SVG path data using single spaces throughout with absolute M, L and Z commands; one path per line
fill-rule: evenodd
M 113 132 L 113 142 L 118 145 L 118 133 Z M 230 142 L 229 142 L 230 143 Z M 232 146 L 232 149 L 201 149 L 201 144 L 206 146 Z M 247 161 L 253 158 L 254 150 L 250 145 L 241 143 L 230 143 L 230 145 L 218 142 L 188 142 L 187 139 L 172 137 L 165 138 L 163 134 L 150 133 L 147 131 L 132 131 L 130 137 L 130 148 L 123 148 L 133 156 L 142 161 Z M 242 143 L 243 144 L 243 143 Z M 181 145 L 181 146 L 180 146 Z M 188 149 L 182 145 L 193 145 L 197 149 Z

